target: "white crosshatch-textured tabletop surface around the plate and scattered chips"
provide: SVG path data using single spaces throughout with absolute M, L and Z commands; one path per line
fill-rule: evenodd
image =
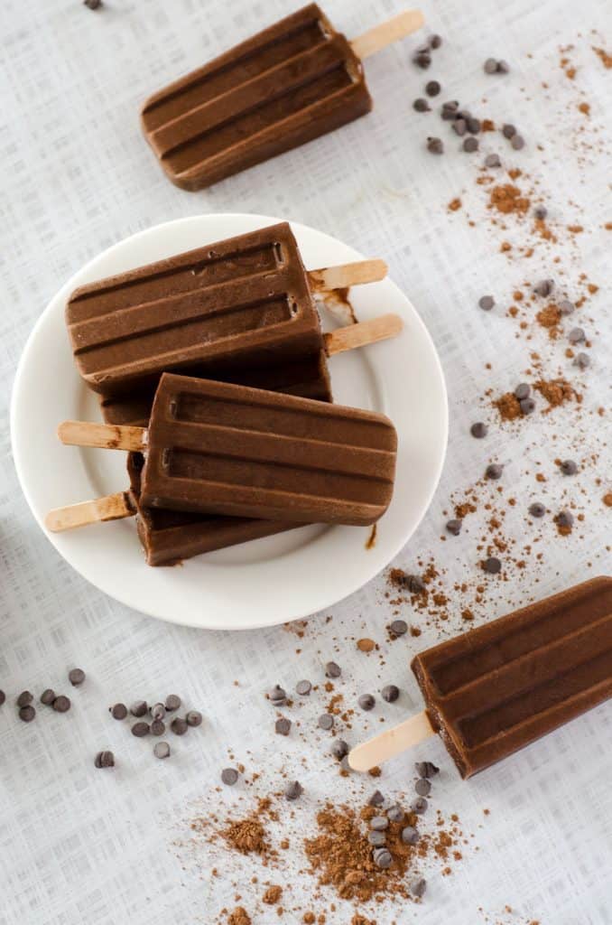
M 326 9 L 350 35 L 400 6 L 396 0 L 332 0 Z M 577 246 L 562 242 L 555 252 L 562 255 L 569 281 L 583 268 L 602 286 L 581 316 L 583 327 L 598 334 L 593 368 L 583 377 L 580 433 L 573 427 L 574 415 L 563 411 L 549 419 L 538 414 L 511 429 L 497 426 L 479 406 L 486 388 L 502 391 L 519 381 L 530 347 L 542 351 L 553 374 L 559 366 L 575 374 L 563 358 L 563 344 L 550 347 L 539 330 L 531 344 L 515 339 L 516 323 L 503 312 L 484 316 L 475 308 L 483 292 L 493 291 L 500 304 L 508 305 L 526 274 L 533 279 L 555 272 L 537 255 L 529 270 L 520 263 L 508 265 L 488 225 L 477 221 L 468 228 L 461 212 L 447 213 L 446 203 L 465 190 L 471 216 L 478 220 L 483 197 L 474 194 L 474 162 L 455 150 L 459 144 L 450 141 L 447 126 L 433 115 L 423 121 L 411 111 L 424 82 L 422 72 L 410 65 L 416 42 L 368 64 L 376 109 L 367 119 L 212 191 L 178 191 L 163 177 L 138 129 L 141 100 L 293 8 L 281 0 L 108 0 L 97 14 L 78 0 L 4 0 L 0 6 L 0 685 L 12 700 L 24 687 L 35 693 L 46 685 L 65 689 L 67 668 L 74 664 L 89 676 L 87 686 L 75 692 L 69 716 L 39 712 L 37 721 L 25 726 L 12 703 L 0 710 L 2 925 L 215 921 L 221 907 L 235 905 L 231 879 L 246 883 L 260 872 L 256 862 L 216 857 L 222 876 L 211 884 L 206 852 L 197 856 L 200 869 L 191 863 L 183 870 L 171 843 L 187 833 L 190 800 L 208 795 L 231 804 L 239 796 L 231 791 L 214 797 L 229 747 L 251 770 L 263 767 L 259 792 L 278 786 L 282 767 L 300 778 L 306 795 L 295 811 L 304 829 L 325 796 L 359 804 L 360 784 L 337 777 L 325 755 L 329 740 L 313 731 L 321 700 L 313 697 L 303 709 L 303 738 L 279 739 L 263 699 L 266 687 L 280 682 L 290 688 L 300 677 L 319 681 L 330 657 L 343 667 L 339 689 L 348 701 L 365 690 L 376 692 L 381 683 L 402 686 L 397 705 L 381 706 L 379 700 L 373 713 L 355 718 L 351 741 L 377 731 L 380 717 L 392 720 L 420 705 L 407 671 L 415 640 L 391 647 L 385 641 L 391 608 L 383 597 L 382 576 L 335 608 L 332 621 L 325 619 L 330 614 L 313 617 L 299 642 L 282 628 L 246 635 L 202 633 L 156 623 L 104 598 L 59 559 L 40 533 L 18 490 L 10 457 L 10 385 L 43 305 L 109 244 L 170 218 L 239 209 L 293 217 L 363 253 L 380 253 L 430 328 L 450 392 L 446 471 L 428 517 L 397 564 L 411 570 L 419 555 L 433 553 L 447 569 L 449 587 L 454 580 L 473 581 L 479 558 L 476 520 L 459 540 L 443 544 L 438 538 L 450 492 L 470 485 L 490 459 L 507 462 L 506 484 L 518 505 L 508 515 L 506 532 L 522 536 L 524 509 L 537 498 L 534 462 L 554 473 L 557 455 L 581 459 L 588 450 L 598 450 L 598 460 L 575 481 L 560 483 L 551 475 L 547 487 L 551 505 L 580 503 L 582 537 L 575 531 L 562 543 L 549 525 L 542 564 L 522 574 L 508 567 L 508 582 L 498 583 L 498 594 L 489 590 L 486 608 L 476 610 L 477 620 L 611 571 L 605 549 L 609 511 L 601 504 L 604 488 L 594 483 L 597 475 L 604 482 L 607 477 L 605 487 L 610 488 L 607 419 L 590 413 L 609 397 L 605 256 L 610 235 L 601 226 L 612 220 L 609 135 L 602 128 L 612 93 L 610 72 L 591 51 L 588 32 L 609 27 L 609 8 L 599 0 L 580 5 L 440 0 L 424 5 L 432 28 L 446 40 L 427 72 L 427 78 L 444 83 L 441 99 L 458 98 L 480 111 L 478 101 L 486 92 L 486 115 L 511 118 L 527 138 L 527 150 L 514 155 L 514 163 L 541 180 L 542 194 L 559 222 L 579 220 L 586 228 Z M 576 45 L 571 57 L 579 68 L 573 82 L 558 67 L 558 46 L 568 43 Z M 489 55 L 508 59 L 508 78 L 484 78 L 482 62 Z M 588 137 L 603 141 L 607 150 L 584 152 L 582 163 L 574 142 L 581 126 L 579 88 L 592 106 Z M 426 154 L 427 134 L 447 140 L 447 156 Z M 487 150 L 495 150 L 494 143 L 507 157 L 509 149 L 501 140 L 487 140 Z M 520 231 L 516 236 L 519 241 Z M 487 362 L 493 372 L 485 370 Z M 418 395 L 407 395 L 407 401 L 418 401 Z M 476 417 L 491 420 L 486 445 L 466 436 Z M 316 575 L 309 580 L 316 581 Z M 451 601 L 448 633 L 461 628 L 459 606 L 459 600 Z M 409 622 L 422 623 L 409 608 L 404 611 Z M 354 638 L 366 635 L 381 644 L 383 672 L 378 657 L 366 657 L 354 646 Z M 437 638 L 434 629 L 425 628 L 419 646 Z M 234 679 L 239 686 L 232 685 Z M 171 740 L 177 742 L 174 760 L 153 762 L 151 742 L 132 739 L 108 719 L 105 707 L 116 699 L 153 698 L 172 690 L 190 706 L 201 707 L 206 723 L 184 739 Z M 93 769 L 93 754 L 102 747 L 116 752 L 116 772 Z M 306 767 L 300 764 L 302 754 Z M 433 870 L 421 907 L 377 907 L 372 918 L 379 925 L 394 919 L 427 925 L 612 921 L 609 704 L 471 783 L 458 780 L 441 745 L 434 743 L 426 754 L 423 749 L 420 757 L 430 756 L 443 769 L 435 783 L 435 806 L 446 814 L 458 812 L 480 850 L 466 851 L 452 877 Z M 391 795 L 402 787 L 410 793 L 410 759 L 399 759 L 378 783 Z M 484 807 L 491 810 L 486 820 Z M 298 868 L 303 859 L 295 844 L 292 857 Z M 296 878 L 288 909 L 309 908 L 310 892 L 312 881 Z M 255 925 L 278 920 L 275 910 L 258 905 L 246 888 L 243 896 Z M 331 898 L 319 906 L 328 906 Z M 516 911 L 505 913 L 506 904 Z M 329 921 L 346 922 L 351 915 L 348 907 L 339 907 Z M 285 920 L 299 921 L 300 915 L 289 911 Z

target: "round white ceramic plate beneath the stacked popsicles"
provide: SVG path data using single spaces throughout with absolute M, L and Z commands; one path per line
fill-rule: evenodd
M 51 508 L 127 486 L 125 454 L 64 447 L 55 436 L 57 424 L 66 418 L 100 418 L 97 401 L 72 362 L 64 326 L 70 291 L 279 220 L 210 215 L 159 225 L 100 254 L 49 303 L 23 351 L 11 405 L 19 481 L 43 530 Z M 298 223 L 292 228 L 307 267 L 362 257 L 314 228 Z M 182 566 L 151 568 L 143 561 L 129 519 L 48 533 L 55 549 L 93 585 L 129 607 L 173 623 L 214 629 L 255 628 L 304 617 L 329 608 L 369 581 L 406 543 L 432 499 L 447 444 L 447 395 L 432 340 L 397 286 L 386 279 L 356 287 L 351 302 L 360 321 L 397 312 L 405 322 L 397 339 L 329 361 L 335 401 L 384 412 L 398 429 L 395 493 L 372 549 L 366 549 L 369 528 L 307 526 L 218 550 Z M 335 325 L 327 321 L 324 327 Z

